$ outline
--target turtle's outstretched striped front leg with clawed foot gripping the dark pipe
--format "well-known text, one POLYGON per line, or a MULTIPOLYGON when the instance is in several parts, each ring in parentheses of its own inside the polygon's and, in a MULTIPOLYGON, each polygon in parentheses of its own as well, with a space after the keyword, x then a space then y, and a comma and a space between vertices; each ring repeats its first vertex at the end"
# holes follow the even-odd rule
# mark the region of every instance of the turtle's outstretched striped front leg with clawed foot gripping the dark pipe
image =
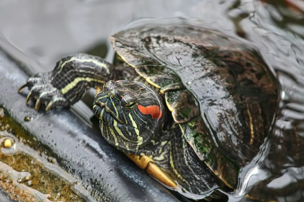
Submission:
POLYGON ((30 99, 36 99, 35 109, 45 104, 51 108, 67 108, 78 102, 89 88, 102 86, 106 81, 118 80, 119 72, 104 59, 84 53, 61 58, 54 70, 38 73, 20 86, 28 87, 30 99))

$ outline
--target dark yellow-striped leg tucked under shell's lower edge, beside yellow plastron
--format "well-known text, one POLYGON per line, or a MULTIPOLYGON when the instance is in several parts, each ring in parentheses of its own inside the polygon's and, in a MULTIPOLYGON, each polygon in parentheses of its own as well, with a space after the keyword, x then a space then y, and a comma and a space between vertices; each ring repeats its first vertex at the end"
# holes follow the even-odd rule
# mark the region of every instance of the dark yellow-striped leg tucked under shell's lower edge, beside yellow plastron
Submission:
POLYGON ((190 198, 202 197, 205 200, 224 197, 216 190, 222 187, 222 183, 199 160, 179 127, 166 132, 157 145, 152 159, 178 182, 176 190, 180 190, 182 195, 190 198))

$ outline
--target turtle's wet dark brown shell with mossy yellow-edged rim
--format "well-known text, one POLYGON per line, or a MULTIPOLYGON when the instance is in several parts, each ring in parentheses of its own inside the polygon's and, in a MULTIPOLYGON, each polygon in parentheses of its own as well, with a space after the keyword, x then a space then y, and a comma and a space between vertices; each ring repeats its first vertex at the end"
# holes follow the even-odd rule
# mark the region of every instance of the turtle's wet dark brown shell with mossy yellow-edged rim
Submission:
POLYGON ((160 88, 197 156, 227 186, 264 142, 278 104, 277 81, 245 40, 207 28, 150 24, 111 37, 117 54, 160 88))

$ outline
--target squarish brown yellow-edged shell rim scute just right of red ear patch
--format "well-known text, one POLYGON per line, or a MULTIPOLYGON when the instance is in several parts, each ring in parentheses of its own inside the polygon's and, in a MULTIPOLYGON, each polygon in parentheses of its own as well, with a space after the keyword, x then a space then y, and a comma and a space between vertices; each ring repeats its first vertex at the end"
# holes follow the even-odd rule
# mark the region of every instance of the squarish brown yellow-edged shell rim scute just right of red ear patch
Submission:
POLYGON ((164 94, 176 123, 185 123, 199 116, 199 105, 188 90, 167 91, 164 94))

